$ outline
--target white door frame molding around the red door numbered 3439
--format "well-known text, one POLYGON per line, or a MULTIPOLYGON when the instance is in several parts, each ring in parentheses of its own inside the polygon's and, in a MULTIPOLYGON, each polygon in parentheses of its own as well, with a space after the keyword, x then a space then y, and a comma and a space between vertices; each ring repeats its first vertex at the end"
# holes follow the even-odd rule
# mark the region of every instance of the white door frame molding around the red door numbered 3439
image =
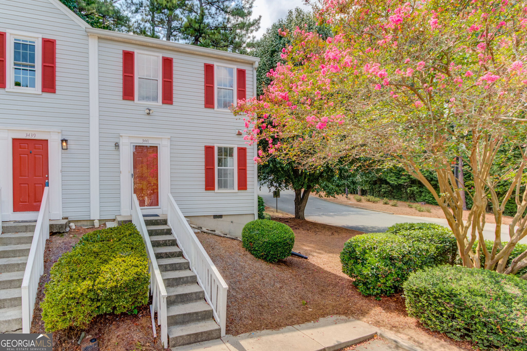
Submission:
POLYGON ((50 219, 62 219, 62 148, 60 130, 13 128, 0 126, 0 187, 2 191, 2 220, 34 220, 35 212, 13 212, 13 139, 47 140, 47 162, 50 177, 50 219), (28 138, 27 134, 36 134, 28 138))

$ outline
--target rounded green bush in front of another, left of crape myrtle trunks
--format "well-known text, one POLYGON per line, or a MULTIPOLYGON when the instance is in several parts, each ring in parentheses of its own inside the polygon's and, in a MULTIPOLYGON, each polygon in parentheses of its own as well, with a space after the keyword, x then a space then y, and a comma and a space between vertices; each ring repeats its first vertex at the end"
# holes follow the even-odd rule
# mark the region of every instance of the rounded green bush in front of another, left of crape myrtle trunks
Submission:
POLYGON ((435 247, 390 233, 357 235, 340 252, 342 271, 364 295, 390 295, 411 272, 435 264, 435 247))

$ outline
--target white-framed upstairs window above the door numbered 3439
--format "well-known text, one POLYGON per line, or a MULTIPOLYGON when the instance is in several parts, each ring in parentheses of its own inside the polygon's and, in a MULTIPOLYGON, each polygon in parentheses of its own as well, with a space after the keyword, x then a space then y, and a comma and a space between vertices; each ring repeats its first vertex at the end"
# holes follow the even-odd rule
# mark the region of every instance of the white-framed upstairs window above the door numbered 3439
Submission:
POLYGON ((6 33, 6 91, 42 94, 42 35, 6 33))

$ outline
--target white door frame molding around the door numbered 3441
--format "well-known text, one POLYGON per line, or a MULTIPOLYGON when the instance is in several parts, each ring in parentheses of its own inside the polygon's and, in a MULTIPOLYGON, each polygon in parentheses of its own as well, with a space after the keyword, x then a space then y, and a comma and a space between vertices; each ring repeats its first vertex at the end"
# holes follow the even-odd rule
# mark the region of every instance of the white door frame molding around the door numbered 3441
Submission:
POLYGON ((159 184, 159 207, 142 208, 143 214, 166 214, 168 213, 168 197, 170 191, 170 137, 160 135, 134 135, 119 134, 120 148, 120 180, 121 180, 121 214, 129 216, 132 214, 132 144, 159 145, 158 155, 158 184, 159 184), (148 140, 148 142, 145 142, 148 140))

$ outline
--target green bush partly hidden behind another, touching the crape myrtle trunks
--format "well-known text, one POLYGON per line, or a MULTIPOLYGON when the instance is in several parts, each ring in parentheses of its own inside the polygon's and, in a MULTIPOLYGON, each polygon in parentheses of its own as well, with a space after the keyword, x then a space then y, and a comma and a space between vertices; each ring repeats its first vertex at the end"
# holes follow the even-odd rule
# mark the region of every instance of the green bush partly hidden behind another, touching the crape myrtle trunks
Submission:
POLYGON ((411 241, 435 247, 436 265, 453 265, 457 257, 457 241, 452 231, 434 223, 397 223, 386 231, 411 241))

